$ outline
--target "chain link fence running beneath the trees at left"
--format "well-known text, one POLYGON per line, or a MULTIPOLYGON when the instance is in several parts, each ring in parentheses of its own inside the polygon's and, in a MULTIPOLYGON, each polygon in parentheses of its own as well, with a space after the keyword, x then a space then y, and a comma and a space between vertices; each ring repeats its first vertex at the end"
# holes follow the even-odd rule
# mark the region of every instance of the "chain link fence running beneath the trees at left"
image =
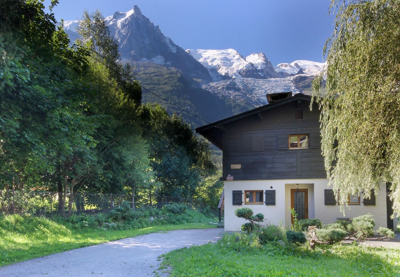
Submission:
MULTIPOLYGON (((41 217, 52 217, 54 215, 70 216, 76 214, 96 214, 106 213, 124 202, 129 202, 132 207, 131 195, 116 194, 92 194, 75 193, 71 197, 70 193, 58 193, 47 191, 13 191, 0 190, 0 213, 2 215, 34 215, 41 217)), ((186 203, 196 209, 202 209, 199 203, 187 203, 180 197, 153 197, 154 202, 139 201, 134 202, 135 208, 156 207, 161 209, 170 203, 186 203)))

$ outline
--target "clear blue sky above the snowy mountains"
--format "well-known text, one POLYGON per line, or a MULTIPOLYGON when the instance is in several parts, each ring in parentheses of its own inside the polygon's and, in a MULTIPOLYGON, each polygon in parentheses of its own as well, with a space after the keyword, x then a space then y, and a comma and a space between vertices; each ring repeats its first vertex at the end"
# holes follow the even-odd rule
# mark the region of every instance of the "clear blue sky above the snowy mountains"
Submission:
POLYGON ((242 56, 264 52, 274 65, 321 62, 333 31, 329 0, 60 0, 54 14, 58 20, 76 20, 84 9, 98 8, 109 16, 134 5, 185 50, 234 48, 242 56))

